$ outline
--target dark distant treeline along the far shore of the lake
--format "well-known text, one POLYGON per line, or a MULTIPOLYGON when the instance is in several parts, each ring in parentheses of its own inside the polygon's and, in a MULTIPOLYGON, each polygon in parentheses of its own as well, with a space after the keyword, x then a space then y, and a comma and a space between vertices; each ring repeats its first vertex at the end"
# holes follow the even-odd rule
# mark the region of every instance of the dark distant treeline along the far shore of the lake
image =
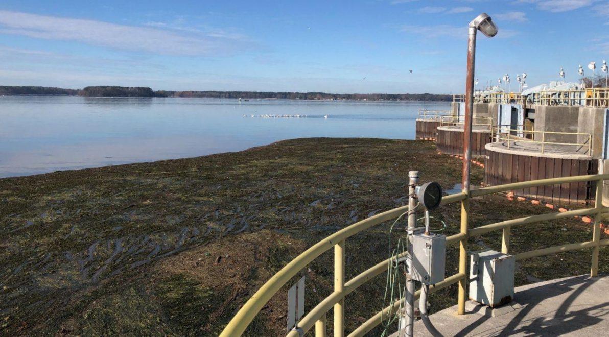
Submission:
POLYGON ((0 94, 79 95, 89 97, 205 97, 219 99, 302 99, 302 100, 451 100, 437 94, 326 94, 325 92, 258 91, 152 91, 147 87, 87 86, 83 89, 46 88, 43 86, 0 86, 0 94))

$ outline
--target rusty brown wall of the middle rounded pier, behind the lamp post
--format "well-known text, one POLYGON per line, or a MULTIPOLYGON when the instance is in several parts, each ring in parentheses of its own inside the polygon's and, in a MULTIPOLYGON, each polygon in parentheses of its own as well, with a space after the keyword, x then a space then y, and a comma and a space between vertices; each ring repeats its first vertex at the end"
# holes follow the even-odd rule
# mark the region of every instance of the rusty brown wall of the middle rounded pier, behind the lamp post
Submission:
MULTIPOLYGON (((463 131, 448 131, 438 129, 438 137, 435 144, 436 150, 445 155, 463 155, 463 131)), ((487 150, 484 145, 491 141, 490 133, 474 132, 471 134, 471 156, 472 158, 484 158, 487 150)))

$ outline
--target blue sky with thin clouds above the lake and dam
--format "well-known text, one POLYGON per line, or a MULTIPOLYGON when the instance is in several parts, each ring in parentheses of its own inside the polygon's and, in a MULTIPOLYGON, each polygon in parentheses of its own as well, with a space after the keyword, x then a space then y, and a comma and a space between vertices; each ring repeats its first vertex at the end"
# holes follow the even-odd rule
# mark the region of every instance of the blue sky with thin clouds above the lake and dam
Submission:
POLYGON ((0 85, 456 93, 481 12, 481 83, 609 59, 609 0, 4 0, 0 85))

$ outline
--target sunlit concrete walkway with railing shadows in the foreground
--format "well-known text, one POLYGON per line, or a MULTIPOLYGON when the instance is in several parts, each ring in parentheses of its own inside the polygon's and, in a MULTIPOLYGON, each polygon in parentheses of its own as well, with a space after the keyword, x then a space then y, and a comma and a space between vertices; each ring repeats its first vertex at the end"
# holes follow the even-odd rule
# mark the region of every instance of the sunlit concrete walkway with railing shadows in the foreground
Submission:
MULTIPOLYGON (((607 275, 518 287, 510 306, 499 309, 493 317, 471 302, 468 307, 476 312, 457 316, 457 308, 451 307, 430 318, 444 336, 609 336, 607 275)), ((429 336, 421 321, 415 322, 414 329, 415 336, 429 336)))

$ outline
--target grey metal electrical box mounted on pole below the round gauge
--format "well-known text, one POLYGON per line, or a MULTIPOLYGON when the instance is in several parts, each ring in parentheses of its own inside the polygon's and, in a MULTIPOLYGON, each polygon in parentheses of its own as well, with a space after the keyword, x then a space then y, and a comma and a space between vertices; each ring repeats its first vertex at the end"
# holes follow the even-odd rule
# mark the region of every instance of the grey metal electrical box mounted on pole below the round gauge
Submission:
POLYGON ((412 279, 432 285, 444 280, 446 237, 418 233, 412 237, 412 279))

